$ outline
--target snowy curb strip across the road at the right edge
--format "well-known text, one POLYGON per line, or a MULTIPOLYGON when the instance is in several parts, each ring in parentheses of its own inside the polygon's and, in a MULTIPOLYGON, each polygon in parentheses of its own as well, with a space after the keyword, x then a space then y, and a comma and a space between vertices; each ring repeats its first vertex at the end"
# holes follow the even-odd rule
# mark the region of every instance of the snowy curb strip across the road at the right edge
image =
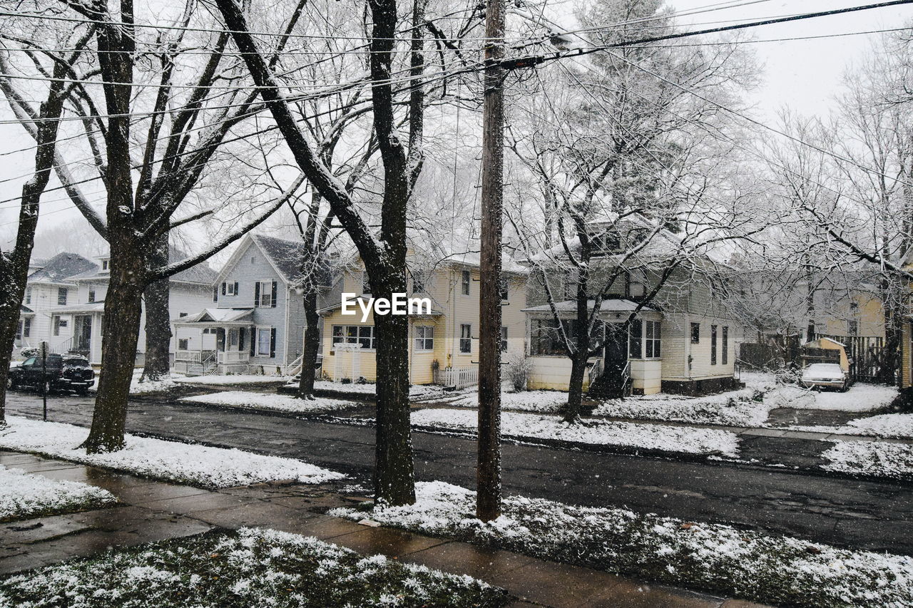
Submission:
POLYGON ((838 441, 821 455, 828 471, 913 479, 913 446, 883 441, 838 441))

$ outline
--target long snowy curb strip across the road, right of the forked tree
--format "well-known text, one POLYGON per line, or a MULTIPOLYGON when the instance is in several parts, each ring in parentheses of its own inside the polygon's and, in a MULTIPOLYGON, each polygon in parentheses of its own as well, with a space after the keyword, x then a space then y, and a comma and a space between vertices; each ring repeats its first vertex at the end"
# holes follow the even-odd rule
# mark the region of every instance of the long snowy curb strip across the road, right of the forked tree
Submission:
MULTIPOLYGON (((412 424, 471 432, 476 430, 478 420, 475 412, 467 410, 427 409, 413 412, 412 424)), ((606 422, 592 418, 584 419, 581 424, 567 425, 555 416, 511 412, 501 414, 501 433, 521 439, 558 439, 596 446, 631 446, 687 454, 736 456, 739 446, 739 439, 729 431, 606 422)))

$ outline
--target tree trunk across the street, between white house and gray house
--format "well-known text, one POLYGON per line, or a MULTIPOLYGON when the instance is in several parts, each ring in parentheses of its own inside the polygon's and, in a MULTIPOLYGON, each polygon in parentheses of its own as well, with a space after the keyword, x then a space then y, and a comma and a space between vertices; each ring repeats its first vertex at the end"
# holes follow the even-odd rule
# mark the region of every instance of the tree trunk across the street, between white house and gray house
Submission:
MULTIPOLYGON (((152 251, 149 266, 153 269, 168 265, 168 233, 159 236, 152 251)), ((171 346, 171 313, 168 300, 171 295, 171 281, 162 278, 146 288, 143 300, 146 308, 146 361, 142 380, 155 382, 168 377, 171 370, 169 347, 171 346)))

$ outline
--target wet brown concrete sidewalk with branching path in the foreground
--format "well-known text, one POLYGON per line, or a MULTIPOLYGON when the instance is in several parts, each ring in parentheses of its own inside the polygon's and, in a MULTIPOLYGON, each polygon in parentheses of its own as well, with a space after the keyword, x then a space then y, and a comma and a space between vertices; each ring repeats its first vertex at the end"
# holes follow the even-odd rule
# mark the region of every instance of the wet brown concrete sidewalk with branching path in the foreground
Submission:
POLYGON ((214 528, 279 529, 362 553, 468 574, 506 589, 511 606, 576 608, 750 608, 666 585, 638 582, 588 568, 563 565, 505 550, 477 547, 398 529, 371 528, 323 515, 352 500, 330 486, 269 483, 209 491, 152 481, 62 460, 0 451, 0 465, 51 479, 104 487, 116 506, 0 524, 0 575, 38 568, 109 548, 198 534, 214 528))

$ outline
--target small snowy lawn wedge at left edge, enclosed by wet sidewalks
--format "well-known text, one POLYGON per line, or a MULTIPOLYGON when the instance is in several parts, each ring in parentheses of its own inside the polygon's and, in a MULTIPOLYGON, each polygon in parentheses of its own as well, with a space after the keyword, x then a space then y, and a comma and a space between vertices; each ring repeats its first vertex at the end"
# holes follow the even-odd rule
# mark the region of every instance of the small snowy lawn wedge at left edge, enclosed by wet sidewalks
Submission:
POLYGON ((108 490, 76 481, 54 481, 0 466, 0 521, 99 508, 116 498, 108 490))

